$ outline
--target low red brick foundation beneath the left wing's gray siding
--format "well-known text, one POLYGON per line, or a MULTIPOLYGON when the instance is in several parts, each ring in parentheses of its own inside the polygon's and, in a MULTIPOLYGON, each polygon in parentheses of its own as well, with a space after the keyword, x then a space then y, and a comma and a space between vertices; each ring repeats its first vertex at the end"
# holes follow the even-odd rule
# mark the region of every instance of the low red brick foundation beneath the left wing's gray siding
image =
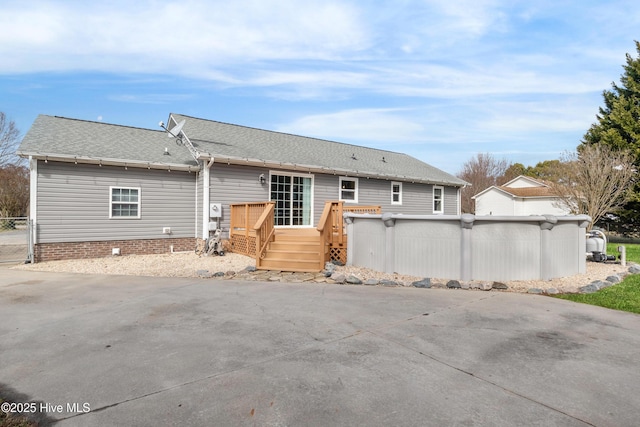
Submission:
POLYGON ((107 240, 100 242, 38 243, 34 248, 34 261, 102 258, 112 255, 112 248, 120 248, 120 255, 150 255, 194 251, 195 237, 174 239, 107 240))

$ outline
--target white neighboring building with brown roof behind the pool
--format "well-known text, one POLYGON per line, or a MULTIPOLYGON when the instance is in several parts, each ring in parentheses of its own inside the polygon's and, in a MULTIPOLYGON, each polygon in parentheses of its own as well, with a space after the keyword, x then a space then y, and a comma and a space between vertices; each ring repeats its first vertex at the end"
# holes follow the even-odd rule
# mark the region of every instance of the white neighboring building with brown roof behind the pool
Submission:
POLYGON ((502 186, 491 186, 472 197, 476 215, 569 215, 551 187, 520 175, 502 186))

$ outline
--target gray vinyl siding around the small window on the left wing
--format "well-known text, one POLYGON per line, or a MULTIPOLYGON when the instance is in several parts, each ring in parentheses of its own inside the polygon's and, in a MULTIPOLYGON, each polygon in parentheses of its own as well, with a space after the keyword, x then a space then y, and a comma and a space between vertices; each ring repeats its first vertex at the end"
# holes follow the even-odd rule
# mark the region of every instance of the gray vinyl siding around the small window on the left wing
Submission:
POLYGON ((37 242, 195 235, 195 173, 38 161, 37 242), (140 218, 109 218, 110 187, 140 188, 140 218), (171 234, 163 234, 171 227, 171 234))

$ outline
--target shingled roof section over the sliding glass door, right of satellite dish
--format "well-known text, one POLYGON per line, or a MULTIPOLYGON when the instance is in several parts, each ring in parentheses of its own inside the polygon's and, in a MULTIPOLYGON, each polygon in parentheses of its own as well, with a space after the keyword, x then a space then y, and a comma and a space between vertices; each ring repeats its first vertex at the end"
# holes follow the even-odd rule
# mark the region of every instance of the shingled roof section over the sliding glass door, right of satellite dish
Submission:
POLYGON ((216 161, 301 171, 464 186, 465 181, 407 154, 173 114, 199 151, 216 161))

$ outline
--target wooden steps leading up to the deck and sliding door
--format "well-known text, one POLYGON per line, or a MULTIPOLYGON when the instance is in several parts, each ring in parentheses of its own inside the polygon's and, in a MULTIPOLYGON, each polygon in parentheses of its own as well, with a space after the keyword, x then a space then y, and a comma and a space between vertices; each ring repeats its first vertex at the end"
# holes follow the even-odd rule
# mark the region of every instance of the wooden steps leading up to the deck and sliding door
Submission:
POLYGON ((321 253, 317 229, 281 228, 276 229, 264 257, 256 264, 261 270, 318 272, 324 268, 320 265, 321 253))

